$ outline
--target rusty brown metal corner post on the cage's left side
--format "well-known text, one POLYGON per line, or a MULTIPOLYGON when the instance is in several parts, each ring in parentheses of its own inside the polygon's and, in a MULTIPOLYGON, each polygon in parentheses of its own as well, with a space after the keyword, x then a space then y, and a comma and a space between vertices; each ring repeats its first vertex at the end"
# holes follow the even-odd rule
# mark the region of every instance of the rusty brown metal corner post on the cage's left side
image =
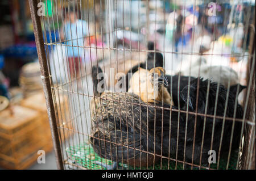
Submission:
POLYGON ((36 49, 38 50, 38 59, 40 63, 44 95, 46 97, 47 112, 49 117, 49 123, 51 125, 52 141, 53 141, 53 146, 55 150, 57 169, 63 170, 64 169, 63 158, 61 157, 60 140, 59 140, 59 135, 57 131, 55 108, 52 100, 51 81, 50 81, 49 70, 47 66, 46 50, 44 49, 42 26, 41 26, 40 16, 37 15, 38 1, 29 0, 29 3, 30 3, 32 23, 34 26, 36 49))

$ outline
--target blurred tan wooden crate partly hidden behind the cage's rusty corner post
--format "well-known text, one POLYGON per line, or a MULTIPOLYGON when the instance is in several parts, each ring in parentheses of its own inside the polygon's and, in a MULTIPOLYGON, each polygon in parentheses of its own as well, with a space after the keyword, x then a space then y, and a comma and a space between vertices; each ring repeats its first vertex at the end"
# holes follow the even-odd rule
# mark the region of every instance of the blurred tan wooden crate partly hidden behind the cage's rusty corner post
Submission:
MULTIPOLYGON (((46 107, 46 99, 44 97, 43 92, 36 93, 34 95, 30 95, 28 98, 22 100, 20 103, 23 107, 31 108, 33 110, 40 112, 41 119, 44 120, 44 124, 47 129, 49 128, 49 119, 47 115, 47 107, 46 107)), ((73 132, 72 121, 69 120, 69 110, 67 106, 67 98, 64 96, 56 96, 56 118, 57 118, 57 126, 61 127, 60 131, 61 140, 68 139, 73 132)))

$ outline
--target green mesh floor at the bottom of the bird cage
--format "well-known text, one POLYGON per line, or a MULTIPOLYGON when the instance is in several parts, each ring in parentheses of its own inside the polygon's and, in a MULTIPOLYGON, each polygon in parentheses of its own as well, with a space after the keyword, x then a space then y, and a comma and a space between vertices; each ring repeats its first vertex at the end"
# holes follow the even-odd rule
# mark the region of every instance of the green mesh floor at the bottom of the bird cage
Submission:
MULTIPOLYGON (((98 154, 96 154, 92 148, 91 145, 88 143, 80 144, 80 145, 75 145, 75 146, 70 146, 69 148, 66 149, 69 159, 69 162, 72 162, 74 164, 80 165, 84 167, 85 169, 92 169, 92 170, 105 170, 106 168, 96 164, 96 161, 105 163, 107 165, 112 165, 112 161, 109 159, 101 158, 98 154)), ((237 165, 237 158, 238 158, 238 151, 234 151, 230 155, 230 160, 229 160, 229 170, 234 170, 236 169, 237 165)), ((226 164, 227 164, 228 158, 220 158, 220 165, 218 167, 219 170, 225 170, 226 169, 226 164)), ((168 159, 163 159, 162 160, 162 168, 160 166, 160 163, 155 164, 155 167, 153 166, 148 166, 148 167, 131 167, 127 166, 126 164, 118 163, 118 169, 130 169, 130 170, 137 170, 137 169, 155 169, 155 170, 174 170, 176 162, 175 161, 170 161, 169 167, 168 167, 168 159)), ((197 167, 194 167, 195 169, 198 169, 197 167)), ((210 165, 211 169, 217 169, 217 163, 211 164, 210 165)), ((177 170, 182 170, 183 169, 183 163, 177 163, 177 170)))

